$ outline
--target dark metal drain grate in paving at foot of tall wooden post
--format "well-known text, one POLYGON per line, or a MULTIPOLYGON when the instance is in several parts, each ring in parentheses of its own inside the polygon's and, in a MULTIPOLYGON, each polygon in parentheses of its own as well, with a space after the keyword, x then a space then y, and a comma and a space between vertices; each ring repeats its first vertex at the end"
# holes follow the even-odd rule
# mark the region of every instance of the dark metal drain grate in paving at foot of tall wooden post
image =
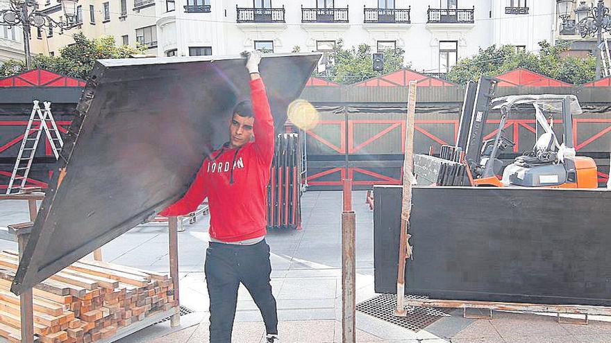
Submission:
MULTIPOLYGON (((427 299, 426 297, 418 297, 415 295, 406 295, 406 299, 427 299)), ((426 326, 437 322, 442 317, 448 317, 453 308, 424 308, 415 307, 408 308, 407 317, 395 317, 392 315, 396 308, 396 294, 380 294, 356 306, 356 310, 382 319, 403 328, 408 328, 411 331, 420 331, 426 326)))

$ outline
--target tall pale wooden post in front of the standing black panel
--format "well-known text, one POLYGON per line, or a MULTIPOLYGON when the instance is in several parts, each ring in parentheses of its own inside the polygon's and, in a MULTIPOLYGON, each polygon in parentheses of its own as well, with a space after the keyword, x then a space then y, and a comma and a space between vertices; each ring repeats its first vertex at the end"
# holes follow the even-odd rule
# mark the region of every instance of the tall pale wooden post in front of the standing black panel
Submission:
POLYGON ((401 203, 401 236, 399 238, 399 270, 396 278, 396 309, 394 315, 404 317, 405 313, 405 261, 410 258, 408 243, 410 211, 412 209, 412 183, 414 174, 414 122, 416 118, 416 81, 410 81, 408 93, 408 114, 405 116, 405 159, 403 160, 403 202, 401 203))

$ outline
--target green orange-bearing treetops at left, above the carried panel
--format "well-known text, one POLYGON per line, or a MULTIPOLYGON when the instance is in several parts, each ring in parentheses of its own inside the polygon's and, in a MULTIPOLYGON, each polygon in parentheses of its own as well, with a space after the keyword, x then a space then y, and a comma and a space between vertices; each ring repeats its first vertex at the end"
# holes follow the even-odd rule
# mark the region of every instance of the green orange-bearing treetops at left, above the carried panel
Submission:
MULTIPOLYGON (((74 78, 86 79, 93 69, 96 60, 105 58, 130 58, 140 54, 144 46, 126 46, 115 44, 112 36, 88 39, 83 33, 74 35, 74 44, 60 49, 58 56, 32 56, 33 69, 42 68, 56 73, 62 73, 74 78)), ((0 66, 0 76, 6 77, 14 73, 26 71, 26 65, 20 60, 8 60, 0 66)))

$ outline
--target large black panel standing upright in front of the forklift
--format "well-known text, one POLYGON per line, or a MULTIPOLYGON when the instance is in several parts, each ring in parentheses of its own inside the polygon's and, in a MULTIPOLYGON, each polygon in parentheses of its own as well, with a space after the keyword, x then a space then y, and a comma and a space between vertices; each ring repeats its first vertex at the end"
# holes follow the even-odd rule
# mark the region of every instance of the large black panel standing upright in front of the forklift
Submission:
MULTIPOLYGON (((374 188, 374 282, 396 292, 401 187, 374 188)), ((405 292, 611 306, 611 191, 413 189, 405 292)))

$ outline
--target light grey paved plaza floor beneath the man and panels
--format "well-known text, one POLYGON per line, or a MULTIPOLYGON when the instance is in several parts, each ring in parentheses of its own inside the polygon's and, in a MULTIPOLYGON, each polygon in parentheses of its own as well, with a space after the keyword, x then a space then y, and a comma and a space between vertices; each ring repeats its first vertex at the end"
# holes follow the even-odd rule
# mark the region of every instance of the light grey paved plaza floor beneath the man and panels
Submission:
MULTIPOLYGON (((303 230, 271 232, 271 284, 278 301, 279 331, 283 343, 342 342, 341 337, 341 192, 306 192, 302 198, 303 230)), ((357 214, 357 301, 374 297, 373 213, 365 193, 355 192, 357 214)), ((0 201, 0 226, 27 220, 26 202, 0 201)), ((120 343, 208 342, 208 294, 203 260, 209 236, 208 218, 178 234, 181 304, 193 313, 181 318, 181 326, 169 322, 150 326, 120 343)), ((167 272, 167 229, 140 226, 103 247, 105 261, 167 272)), ((16 249, 0 241, 0 249, 16 249)), ((611 343, 611 318, 590 317, 588 326, 558 324, 555 316, 495 313, 494 319, 450 316, 413 332, 357 313, 358 342, 426 343, 611 343), (601 320, 601 321, 599 321, 601 320)), ((233 342, 262 342, 262 319, 248 292, 240 288, 233 342)))

